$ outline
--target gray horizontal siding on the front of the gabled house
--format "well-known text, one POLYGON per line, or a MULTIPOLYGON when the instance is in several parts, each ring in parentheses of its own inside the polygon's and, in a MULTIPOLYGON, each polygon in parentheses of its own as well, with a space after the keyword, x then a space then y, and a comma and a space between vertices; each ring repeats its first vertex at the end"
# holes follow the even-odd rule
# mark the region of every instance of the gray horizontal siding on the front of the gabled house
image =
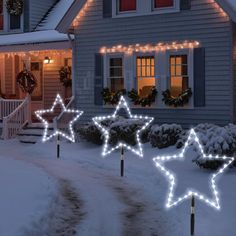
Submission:
MULTIPOLYGON (((94 54, 102 46, 146 44, 175 40, 197 40, 206 50, 206 106, 194 109, 134 109, 158 123, 190 126, 202 122, 227 124, 233 121, 232 109, 232 28, 227 17, 207 0, 192 0, 192 9, 180 13, 103 19, 102 0, 95 0, 76 33, 77 106, 85 111, 83 121, 110 109, 94 105, 94 77, 91 86, 84 80, 94 75, 94 54)), ((158 96, 161 96, 159 94, 158 96)))

